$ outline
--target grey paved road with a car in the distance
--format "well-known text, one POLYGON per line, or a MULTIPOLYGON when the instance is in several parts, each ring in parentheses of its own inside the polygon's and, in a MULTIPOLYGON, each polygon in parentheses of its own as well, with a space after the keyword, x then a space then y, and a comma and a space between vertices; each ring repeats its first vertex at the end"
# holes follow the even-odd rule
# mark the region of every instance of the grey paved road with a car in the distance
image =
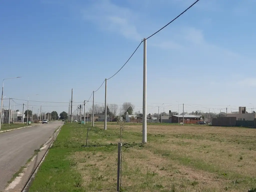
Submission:
POLYGON ((54 121, 0 133, 0 191, 61 124, 62 121, 54 121))

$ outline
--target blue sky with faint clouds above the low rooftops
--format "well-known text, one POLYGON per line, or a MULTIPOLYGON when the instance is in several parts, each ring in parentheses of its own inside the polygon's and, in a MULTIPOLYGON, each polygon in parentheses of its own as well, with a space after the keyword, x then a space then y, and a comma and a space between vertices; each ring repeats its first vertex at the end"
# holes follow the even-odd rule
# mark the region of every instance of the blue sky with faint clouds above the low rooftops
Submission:
MULTIPOLYGON (((141 39, 192 3, 191 0, 1 1, 0 78, 22 76, 5 81, 4 96, 26 100, 28 95, 39 94, 30 99, 68 102, 73 88, 75 102, 88 100, 105 78, 119 70, 141 39)), ((178 101, 205 107, 186 106, 187 111, 216 108, 216 112, 217 108, 228 105, 256 106, 255 6, 253 0, 232 3, 200 0, 148 39, 148 105, 175 105, 178 101)), ((108 81, 108 102, 132 102, 139 109, 142 85, 143 46, 140 46, 129 63, 108 81)), ((104 102, 104 86, 95 93, 95 102, 104 102)), ((68 110, 67 103, 30 104, 46 105, 46 110, 58 112, 68 110)), ((168 108, 177 110, 177 106, 168 108)), ((148 112, 157 109, 149 107, 148 112)))

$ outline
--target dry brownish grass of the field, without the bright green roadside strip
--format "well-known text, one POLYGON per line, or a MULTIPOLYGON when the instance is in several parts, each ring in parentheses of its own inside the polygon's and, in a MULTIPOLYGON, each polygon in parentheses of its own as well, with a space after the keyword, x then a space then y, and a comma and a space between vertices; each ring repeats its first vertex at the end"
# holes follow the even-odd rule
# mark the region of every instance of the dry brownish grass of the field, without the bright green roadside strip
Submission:
MULTIPOLYGON (((119 125, 109 125, 107 131, 92 132, 91 142, 116 143, 118 129, 119 125)), ((125 124, 123 143, 141 142, 141 130, 140 125, 125 124)), ((147 133, 144 147, 136 143, 123 147, 125 191, 248 191, 256 187, 256 129, 148 125, 147 133)), ((93 151, 72 156, 83 187, 114 191, 117 148, 101 146, 93 151)))

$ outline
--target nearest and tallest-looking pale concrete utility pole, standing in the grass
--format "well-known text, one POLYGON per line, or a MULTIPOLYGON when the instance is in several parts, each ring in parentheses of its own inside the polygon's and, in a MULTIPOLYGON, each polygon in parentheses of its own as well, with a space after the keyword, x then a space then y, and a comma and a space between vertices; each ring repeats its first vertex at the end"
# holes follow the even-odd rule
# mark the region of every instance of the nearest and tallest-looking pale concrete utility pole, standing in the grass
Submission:
POLYGON ((143 50, 143 109, 142 143, 147 143, 147 39, 144 38, 143 50))

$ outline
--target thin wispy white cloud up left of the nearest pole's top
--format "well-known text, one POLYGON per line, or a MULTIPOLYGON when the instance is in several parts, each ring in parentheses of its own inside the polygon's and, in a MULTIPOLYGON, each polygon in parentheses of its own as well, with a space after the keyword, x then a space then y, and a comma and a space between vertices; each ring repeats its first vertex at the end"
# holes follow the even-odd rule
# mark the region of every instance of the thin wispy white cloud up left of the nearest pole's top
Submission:
POLYGON ((103 30, 118 33, 129 39, 141 39, 134 24, 137 16, 129 8, 117 6, 108 0, 100 0, 83 9, 82 14, 84 19, 103 30))

